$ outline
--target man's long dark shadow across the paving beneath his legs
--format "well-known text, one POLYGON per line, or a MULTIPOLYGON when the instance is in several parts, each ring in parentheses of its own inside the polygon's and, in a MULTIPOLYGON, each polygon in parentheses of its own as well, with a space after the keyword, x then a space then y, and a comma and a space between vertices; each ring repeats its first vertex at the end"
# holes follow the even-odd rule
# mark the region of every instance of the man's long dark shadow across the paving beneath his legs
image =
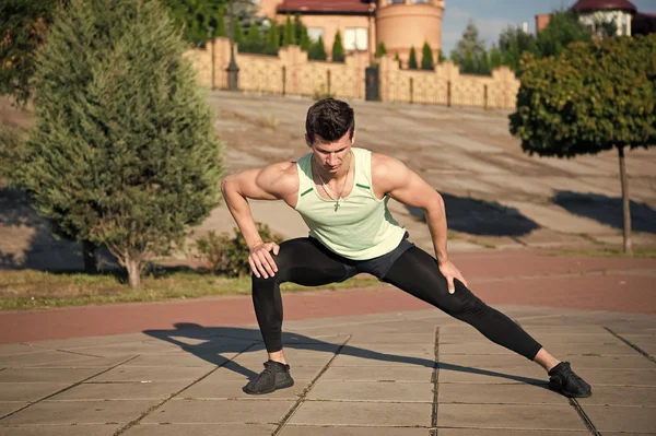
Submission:
MULTIPOLYGON (((262 362, 267 360, 265 345, 261 341, 259 330, 245 329, 236 327, 202 327, 192 322, 176 322, 173 330, 144 330, 143 333, 178 345, 195 356, 202 358, 213 365, 222 366, 226 369, 241 374, 248 379, 253 379, 257 373, 239 365, 238 363, 221 356, 219 353, 243 353, 261 352, 262 362), (195 344, 188 343, 196 342, 195 344)), ((306 337, 297 333, 283 333, 282 341, 285 349, 311 350, 317 353, 333 353, 340 346, 330 342, 306 337)), ((408 365, 423 366, 427 368, 435 367, 435 361, 421 357, 402 356, 396 354, 378 353, 358 346, 344 345, 339 351, 340 355, 370 358, 379 362, 394 362, 408 365)), ((497 373, 488 369, 472 368, 469 366, 455 365, 449 363, 437 363, 441 370, 456 370, 460 373, 478 374, 491 377, 502 377, 513 381, 519 381, 549 389, 546 380, 530 377, 514 376, 512 374, 497 373)))

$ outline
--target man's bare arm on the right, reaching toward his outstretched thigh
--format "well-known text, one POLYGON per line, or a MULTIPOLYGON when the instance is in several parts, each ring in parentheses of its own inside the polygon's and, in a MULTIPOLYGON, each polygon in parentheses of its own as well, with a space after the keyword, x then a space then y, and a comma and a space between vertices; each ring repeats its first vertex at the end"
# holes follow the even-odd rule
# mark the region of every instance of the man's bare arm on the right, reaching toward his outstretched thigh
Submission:
POLYGON ((442 196, 402 162, 383 154, 372 155, 372 178, 376 191, 387 193, 403 204, 423 209, 435 258, 441 264, 448 262, 442 196))

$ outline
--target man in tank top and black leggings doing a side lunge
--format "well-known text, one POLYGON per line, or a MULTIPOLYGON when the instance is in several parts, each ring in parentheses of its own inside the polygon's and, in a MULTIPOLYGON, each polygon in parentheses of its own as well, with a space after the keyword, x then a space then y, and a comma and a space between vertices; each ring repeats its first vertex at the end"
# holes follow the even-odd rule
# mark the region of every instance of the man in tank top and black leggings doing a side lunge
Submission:
POLYGON ((467 288, 448 258, 440 193, 400 161, 353 148, 354 127, 347 103, 319 101, 308 109, 305 122, 312 153, 223 180, 225 202, 250 249, 253 302, 269 355, 265 370, 244 390, 269 393, 294 384, 282 350, 280 283, 317 286, 367 272, 535 361, 548 372, 552 389, 567 397, 589 397, 590 386, 567 362, 554 358, 467 288), (407 240, 408 234, 387 209, 389 198, 425 211, 434 258, 407 240), (280 246, 263 241, 247 199, 283 200, 302 215, 309 236, 280 246))

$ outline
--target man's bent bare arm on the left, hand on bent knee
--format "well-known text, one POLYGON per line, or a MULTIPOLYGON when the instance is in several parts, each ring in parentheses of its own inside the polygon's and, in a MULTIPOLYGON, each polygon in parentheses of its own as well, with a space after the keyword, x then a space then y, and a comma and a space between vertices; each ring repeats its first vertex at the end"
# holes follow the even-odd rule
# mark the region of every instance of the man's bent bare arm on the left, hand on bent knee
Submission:
POLYGON ((248 199, 285 200, 295 202, 298 179, 292 162, 281 162, 263 168, 247 169, 227 176, 221 184, 221 191, 237 226, 244 234, 249 249, 262 244, 257 232, 248 199))

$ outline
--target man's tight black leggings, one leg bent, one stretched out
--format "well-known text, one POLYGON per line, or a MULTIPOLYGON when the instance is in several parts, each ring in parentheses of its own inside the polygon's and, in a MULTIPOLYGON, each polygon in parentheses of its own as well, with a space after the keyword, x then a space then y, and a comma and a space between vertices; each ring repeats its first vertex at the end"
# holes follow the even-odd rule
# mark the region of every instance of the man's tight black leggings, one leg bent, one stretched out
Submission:
MULTIPOLYGON (((255 314, 269 353, 282 350, 280 283, 318 286, 342 282, 359 272, 371 272, 360 268, 370 261, 342 258, 313 238, 288 240, 281 244, 273 258, 278 266, 273 278, 253 275, 255 314)), ((542 347, 512 319, 481 302, 460 281, 455 280, 456 292, 449 294, 437 261, 420 248, 406 249, 379 279, 471 325, 492 342, 530 361, 542 347)))

